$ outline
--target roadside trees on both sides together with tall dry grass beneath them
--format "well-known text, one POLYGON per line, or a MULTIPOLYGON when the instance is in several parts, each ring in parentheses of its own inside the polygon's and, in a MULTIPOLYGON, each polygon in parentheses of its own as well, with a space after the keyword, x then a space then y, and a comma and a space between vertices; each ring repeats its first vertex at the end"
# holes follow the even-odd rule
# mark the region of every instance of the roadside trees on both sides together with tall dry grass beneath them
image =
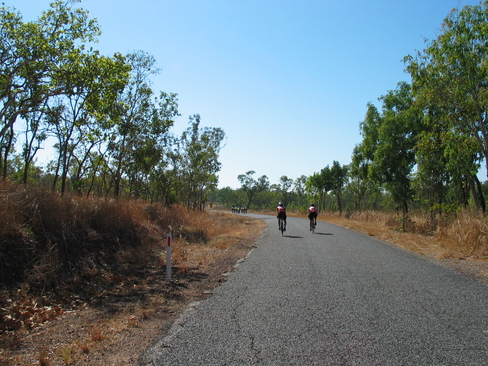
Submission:
POLYGON ((434 239, 444 257, 487 258, 488 2, 454 9, 405 57, 411 81, 367 103, 350 164, 277 183, 250 170, 237 189, 217 189, 225 132, 194 114, 175 135, 177 94, 152 90, 156 60, 101 55, 98 24, 76 3, 34 22, 0 7, 2 347, 141 268, 161 270, 167 232, 182 243, 180 270, 198 267, 189 248, 218 249, 223 235, 210 202, 274 213, 282 201, 297 215, 314 202, 322 217, 434 239), (41 166, 46 144, 55 158, 41 166))

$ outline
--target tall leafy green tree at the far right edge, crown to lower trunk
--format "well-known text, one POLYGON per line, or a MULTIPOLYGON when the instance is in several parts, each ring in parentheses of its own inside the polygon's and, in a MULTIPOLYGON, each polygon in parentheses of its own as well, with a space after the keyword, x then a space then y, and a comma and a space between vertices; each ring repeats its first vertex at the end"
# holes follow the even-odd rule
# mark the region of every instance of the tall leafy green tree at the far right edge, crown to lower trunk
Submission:
MULTIPOLYGON (((468 190, 476 185, 481 159, 488 164, 487 24, 488 2, 454 9, 444 19, 437 39, 429 41, 416 57, 405 58, 416 103, 426 111, 432 136, 428 140, 429 135, 424 135, 419 144, 420 171, 425 176, 437 166, 436 179, 447 181, 439 163, 426 154, 435 152, 448 178, 460 188, 467 185, 468 190), (435 150, 429 147, 434 141, 435 150)), ((484 210, 481 190, 472 192, 475 205, 484 210)))

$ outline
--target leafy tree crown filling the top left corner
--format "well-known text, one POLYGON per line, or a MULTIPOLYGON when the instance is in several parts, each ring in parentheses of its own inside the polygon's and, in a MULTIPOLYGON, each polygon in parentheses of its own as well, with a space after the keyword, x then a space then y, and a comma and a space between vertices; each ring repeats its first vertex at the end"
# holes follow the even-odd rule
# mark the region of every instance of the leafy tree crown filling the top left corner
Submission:
POLYGON ((55 1, 34 22, 0 7, 0 139, 21 115, 66 91, 73 57, 100 34, 95 20, 72 1, 55 1))

